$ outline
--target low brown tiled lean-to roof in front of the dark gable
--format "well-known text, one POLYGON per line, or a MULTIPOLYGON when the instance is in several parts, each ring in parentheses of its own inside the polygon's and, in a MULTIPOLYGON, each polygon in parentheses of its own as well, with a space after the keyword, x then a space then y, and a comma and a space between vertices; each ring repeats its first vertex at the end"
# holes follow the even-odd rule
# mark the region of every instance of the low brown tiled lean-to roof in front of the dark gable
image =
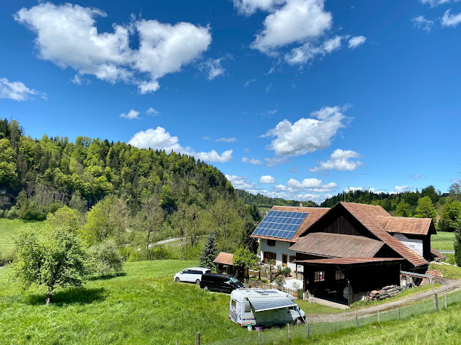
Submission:
POLYGON ((335 258, 373 258, 382 246, 383 242, 364 236, 313 232, 302 237, 288 250, 335 258))

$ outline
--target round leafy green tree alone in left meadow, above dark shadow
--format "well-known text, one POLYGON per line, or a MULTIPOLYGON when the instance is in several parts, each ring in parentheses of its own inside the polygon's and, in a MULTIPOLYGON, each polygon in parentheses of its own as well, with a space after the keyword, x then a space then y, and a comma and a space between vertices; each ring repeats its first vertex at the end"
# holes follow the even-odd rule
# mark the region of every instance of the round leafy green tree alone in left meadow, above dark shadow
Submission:
POLYGON ((46 287, 46 305, 57 288, 83 283, 85 252, 68 227, 21 229, 15 239, 14 275, 23 290, 33 283, 46 287))

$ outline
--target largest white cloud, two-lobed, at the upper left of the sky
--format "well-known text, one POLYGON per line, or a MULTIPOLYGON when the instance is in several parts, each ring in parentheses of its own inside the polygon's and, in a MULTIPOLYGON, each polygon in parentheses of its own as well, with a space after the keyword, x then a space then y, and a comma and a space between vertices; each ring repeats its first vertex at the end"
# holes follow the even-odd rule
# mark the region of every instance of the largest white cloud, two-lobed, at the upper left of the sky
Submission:
POLYGON ((159 78, 181 70, 211 43, 210 28, 191 23, 171 25, 142 19, 129 25, 113 24, 112 33, 99 33, 95 26, 98 16, 107 14, 100 9, 47 2, 23 8, 14 18, 37 34, 36 48, 43 60, 71 67, 79 75, 137 84, 141 94, 159 89, 159 78), (135 31, 139 35, 137 50, 129 44, 135 31))

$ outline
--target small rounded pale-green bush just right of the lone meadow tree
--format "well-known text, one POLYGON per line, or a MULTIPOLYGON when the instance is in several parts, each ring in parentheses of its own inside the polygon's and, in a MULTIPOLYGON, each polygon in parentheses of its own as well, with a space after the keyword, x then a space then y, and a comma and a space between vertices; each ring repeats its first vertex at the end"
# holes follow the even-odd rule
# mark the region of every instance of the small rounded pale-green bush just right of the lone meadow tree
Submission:
POLYGON ((103 277, 122 272, 123 261, 117 243, 112 240, 95 243, 88 249, 88 263, 92 273, 103 277))

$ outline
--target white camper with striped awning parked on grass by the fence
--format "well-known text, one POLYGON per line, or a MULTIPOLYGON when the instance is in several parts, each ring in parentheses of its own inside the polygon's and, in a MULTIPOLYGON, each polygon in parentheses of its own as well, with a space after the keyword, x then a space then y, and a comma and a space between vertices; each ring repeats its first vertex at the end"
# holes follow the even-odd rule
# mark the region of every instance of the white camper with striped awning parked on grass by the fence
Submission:
POLYGON ((230 294, 229 319, 239 326, 270 327, 303 322, 305 314, 295 297, 279 290, 237 289, 230 294))

